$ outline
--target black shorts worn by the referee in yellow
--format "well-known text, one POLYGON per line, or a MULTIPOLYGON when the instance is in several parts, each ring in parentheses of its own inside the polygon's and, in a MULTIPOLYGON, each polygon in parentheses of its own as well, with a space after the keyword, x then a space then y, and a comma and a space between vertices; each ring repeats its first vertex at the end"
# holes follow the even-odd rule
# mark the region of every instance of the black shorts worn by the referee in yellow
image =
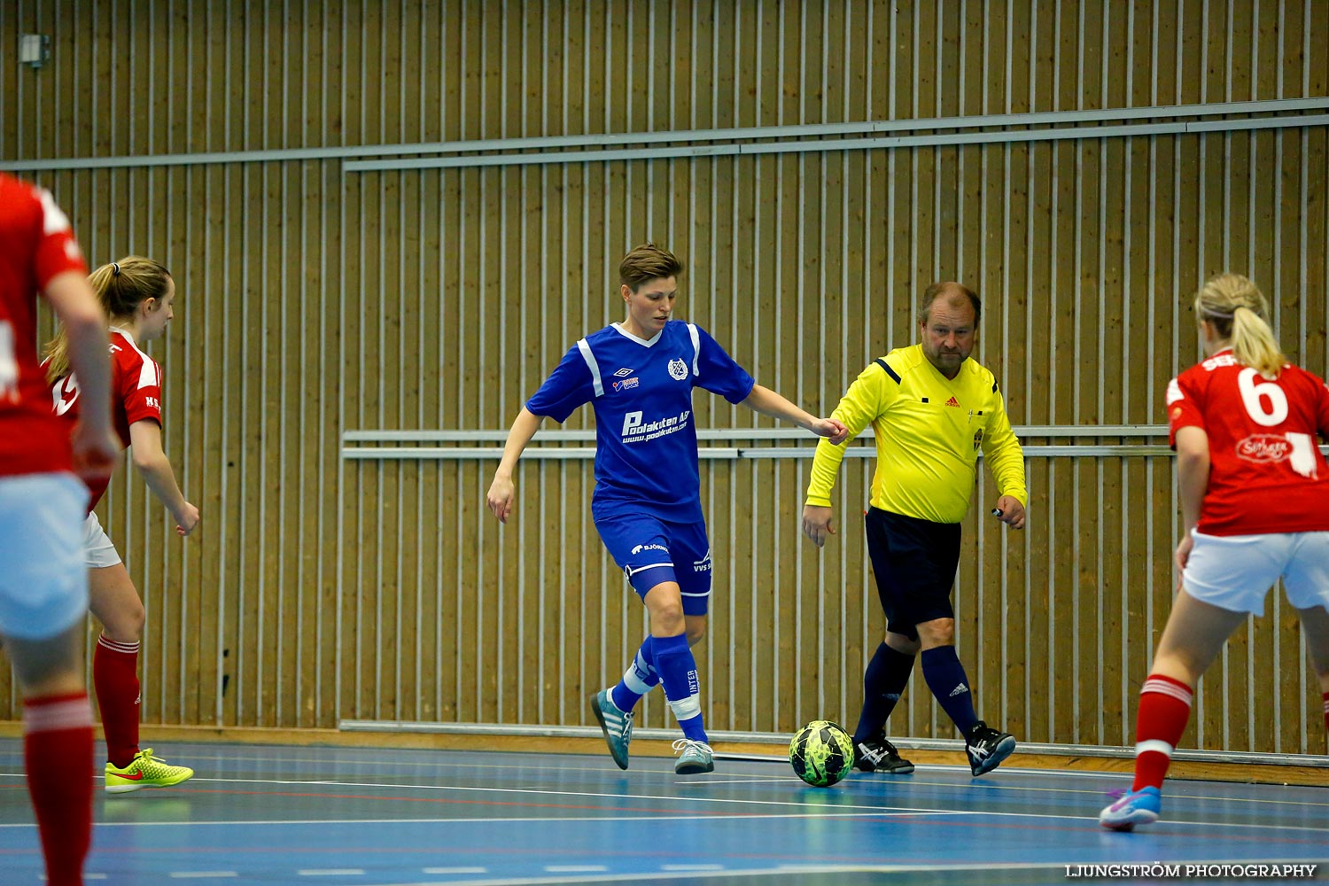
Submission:
POLYGON ((956 618, 950 587, 960 567, 960 523, 933 523, 880 507, 869 509, 864 519, 886 630, 917 640, 917 624, 956 618))

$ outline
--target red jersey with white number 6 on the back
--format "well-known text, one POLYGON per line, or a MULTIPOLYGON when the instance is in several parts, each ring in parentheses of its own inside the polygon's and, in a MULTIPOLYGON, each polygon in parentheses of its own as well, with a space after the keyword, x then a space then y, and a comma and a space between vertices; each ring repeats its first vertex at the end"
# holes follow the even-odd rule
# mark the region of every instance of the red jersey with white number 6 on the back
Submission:
POLYGON ((1168 437, 1201 428, 1209 437, 1209 485, 1196 531, 1259 535, 1329 530, 1329 388, 1293 365, 1263 377, 1220 351, 1167 388, 1168 437))

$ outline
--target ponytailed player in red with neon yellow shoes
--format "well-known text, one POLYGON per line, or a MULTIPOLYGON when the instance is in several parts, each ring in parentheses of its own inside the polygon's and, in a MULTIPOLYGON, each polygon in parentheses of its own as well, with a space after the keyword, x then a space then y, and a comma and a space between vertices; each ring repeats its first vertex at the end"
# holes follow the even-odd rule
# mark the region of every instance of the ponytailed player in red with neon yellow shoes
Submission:
MULTIPOLYGON (((121 446, 133 448, 134 466, 157 499, 175 519, 175 531, 189 535, 198 526, 198 509, 185 499, 162 450, 162 371, 141 344, 161 337, 174 316, 175 282, 159 263, 137 255, 104 264, 89 278, 110 319, 110 410, 121 446)), ((82 381, 70 375, 64 331, 48 347, 47 379, 57 414, 76 418, 88 401, 82 381)), ((84 523, 89 608, 101 622, 92 659, 93 687, 106 735, 105 788, 126 793, 179 784, 194 770, 167 765, 152 748, 138 747, 138 646, 144 602, 116 546, 92 511, 106 491, 109 477, 89 484, 92 501, 84 523)))

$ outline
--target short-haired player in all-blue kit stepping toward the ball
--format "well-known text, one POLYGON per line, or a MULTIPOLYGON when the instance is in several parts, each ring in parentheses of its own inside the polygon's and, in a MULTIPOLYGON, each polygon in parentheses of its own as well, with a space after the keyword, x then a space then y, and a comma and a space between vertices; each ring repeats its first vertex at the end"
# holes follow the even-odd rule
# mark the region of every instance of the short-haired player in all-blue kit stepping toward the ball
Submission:
POLYGON ((691 646, 706 632, 711 547, 702 517, 692 388, 784 418, 844 442, 835 418, 816 418, 754 383, 704 329, 670 320, 683 271, 667 250, 638 246, 618 267, 627 317, 581 339, 517 413, 489 486, 489 510, 506 522, 513 469, 540 422, 563 422, 585 402, 595 410, 591 514, 650 614, 650 635, 617 685, 591 697, 591 712, 619 769, 627 769, 633 708, 663 683, 683 737, 674 772, 715 769, 702 725, 700 683, 691 646))

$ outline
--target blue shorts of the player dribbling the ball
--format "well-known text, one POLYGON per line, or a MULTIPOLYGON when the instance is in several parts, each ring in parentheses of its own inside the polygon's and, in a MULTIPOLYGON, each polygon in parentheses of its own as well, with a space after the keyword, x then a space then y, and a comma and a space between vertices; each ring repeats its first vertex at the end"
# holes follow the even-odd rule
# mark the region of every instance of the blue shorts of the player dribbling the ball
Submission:
POLYGON ((706 523, 670 523, 649 514, 595 521, 610 557, 642 599, 661 582, 678 582, 684 615, 706 615, 711 603, 711 545, 706 523))

